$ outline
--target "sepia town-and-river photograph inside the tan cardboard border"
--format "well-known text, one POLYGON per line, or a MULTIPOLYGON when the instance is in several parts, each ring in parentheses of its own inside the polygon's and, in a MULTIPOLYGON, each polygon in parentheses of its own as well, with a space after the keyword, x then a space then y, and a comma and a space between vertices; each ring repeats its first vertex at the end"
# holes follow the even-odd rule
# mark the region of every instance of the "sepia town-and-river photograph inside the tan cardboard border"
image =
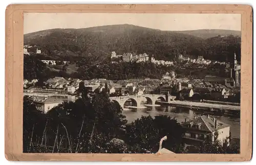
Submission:
POLYGON ((24 13, 23 152, 240 154, 241 14, 24 13))

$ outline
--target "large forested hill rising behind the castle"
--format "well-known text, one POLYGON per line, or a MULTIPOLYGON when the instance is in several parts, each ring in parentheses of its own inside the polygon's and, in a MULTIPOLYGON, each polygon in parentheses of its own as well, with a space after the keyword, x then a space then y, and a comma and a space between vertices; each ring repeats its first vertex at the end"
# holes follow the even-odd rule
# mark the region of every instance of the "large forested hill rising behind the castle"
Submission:
POLYGON ((225 61, 236 52, 240 57, 241 38, 230 36, 203 39, 180 32, 160 31, 140 26, 121 24, 86 29, 52 29, 24 35, 24 45, 37 45, 42 58, 80 60, 93 57, 103 62, 111 51, 154 54, 158 60, 173 60, 178 54, 197 58, 225 61), (214 45, 212 45, 212 43, 214 45), (231 44, 230 44, 231 43, 231 44))

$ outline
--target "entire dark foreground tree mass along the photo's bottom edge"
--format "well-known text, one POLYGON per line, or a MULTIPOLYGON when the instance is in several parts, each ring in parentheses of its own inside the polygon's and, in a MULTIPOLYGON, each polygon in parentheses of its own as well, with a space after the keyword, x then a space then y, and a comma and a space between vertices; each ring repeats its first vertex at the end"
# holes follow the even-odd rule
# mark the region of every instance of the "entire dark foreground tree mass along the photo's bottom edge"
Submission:
POLYGON ((163 147, 175 153, 239 153, 239 147, 217 143, 185 150, 181 141, 184 132, 176 119, 148 116, 127 125, 120 105, 111 102, 106 91, 92 97, 84 89, 79 91, 81 98, 64 102, 47 114, 37 111, 35 104, 24 97, 24 152, 156 153, 160 139, 166 135, 163 147))

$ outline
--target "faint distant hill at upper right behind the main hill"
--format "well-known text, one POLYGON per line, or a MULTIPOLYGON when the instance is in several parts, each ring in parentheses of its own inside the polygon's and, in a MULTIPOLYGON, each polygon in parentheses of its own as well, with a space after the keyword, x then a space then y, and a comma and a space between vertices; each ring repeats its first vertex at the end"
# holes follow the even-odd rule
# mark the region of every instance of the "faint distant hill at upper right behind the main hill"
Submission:
POLYGON ((219 29, 201 29, 193 31, 175 31, 177 33, 187 34, 191 36, 200 37, 203 39, 217 37, 217 36, 239 36, 241 37, 241 31, 232 31, 232 30, 219 30, 219 29))

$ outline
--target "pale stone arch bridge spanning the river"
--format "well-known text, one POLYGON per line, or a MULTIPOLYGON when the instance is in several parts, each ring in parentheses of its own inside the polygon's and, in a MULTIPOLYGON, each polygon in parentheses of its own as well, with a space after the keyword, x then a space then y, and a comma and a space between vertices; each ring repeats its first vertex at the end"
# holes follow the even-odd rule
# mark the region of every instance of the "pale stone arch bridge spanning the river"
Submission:
POLYGON ((144 99, 147 100, 147 104, 155 105, 157 101, 162 101, 162 102, 170 102, 174 101, 176 96, 168 96, 168 100, 166 100, 165 95, 153 95, 153 94, 148 94, 148 95, 130 95, 130 96, 119 96, 119 97, 110 97, 111 101, 118 102, 119 105, 123 108, 124 103, 126 101, 132 101, 133 106, 140 107, 141 106, 141 101, 144 99))

